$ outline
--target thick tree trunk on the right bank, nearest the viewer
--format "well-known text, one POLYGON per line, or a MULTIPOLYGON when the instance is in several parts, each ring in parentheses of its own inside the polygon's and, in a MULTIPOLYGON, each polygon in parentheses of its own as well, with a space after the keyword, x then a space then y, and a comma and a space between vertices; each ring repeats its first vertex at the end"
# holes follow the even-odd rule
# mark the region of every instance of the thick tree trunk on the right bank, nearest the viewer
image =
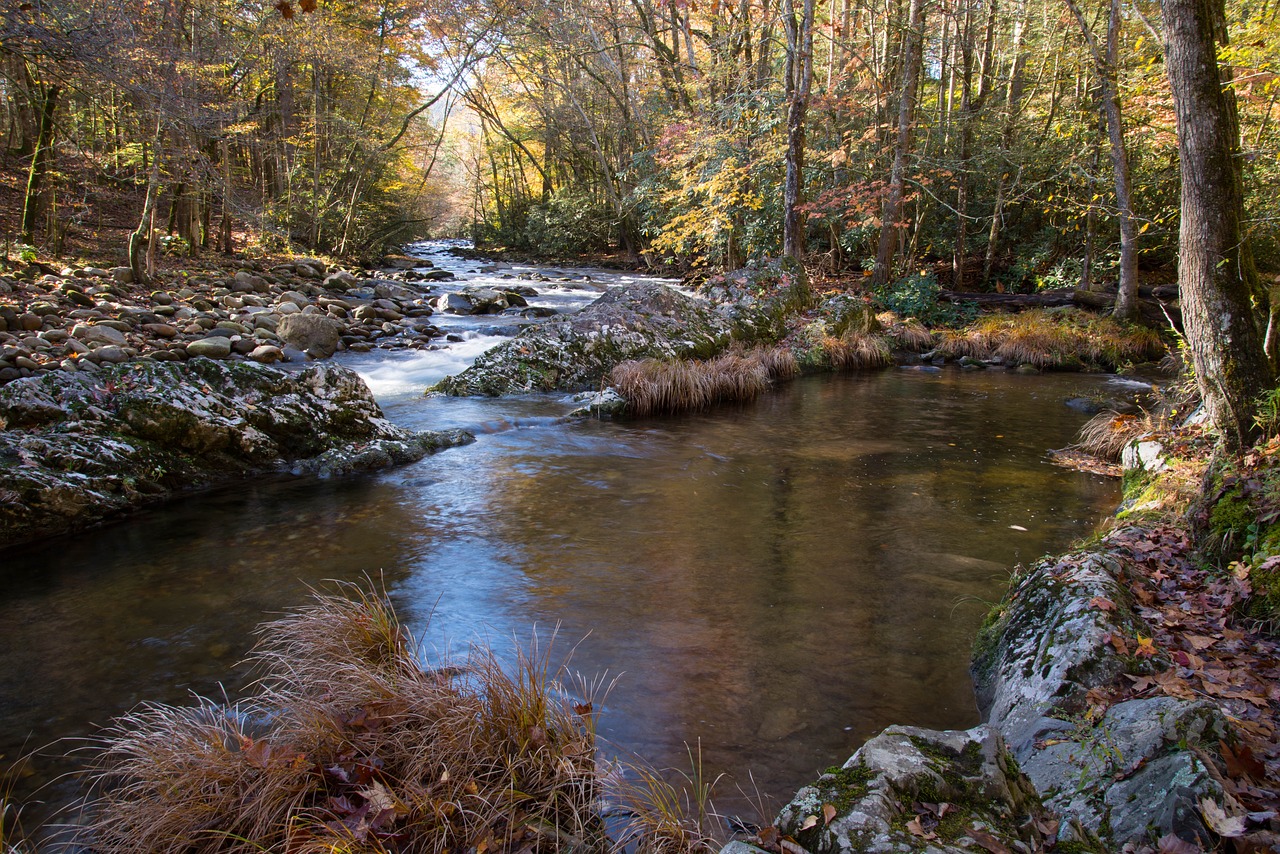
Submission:
POLYGON ((1235 100, 1224 92, 1217 67, 1215 36, 1224 20, 1222 4, 1162 0, 1162 8, 1183 183, 1178 237, 1183 319, 1208 416, 1228 446, 1238 448, 1254 431, 1254 401, 1272 371, 1251 301, 1257 274, 1240 222, 1235 100))

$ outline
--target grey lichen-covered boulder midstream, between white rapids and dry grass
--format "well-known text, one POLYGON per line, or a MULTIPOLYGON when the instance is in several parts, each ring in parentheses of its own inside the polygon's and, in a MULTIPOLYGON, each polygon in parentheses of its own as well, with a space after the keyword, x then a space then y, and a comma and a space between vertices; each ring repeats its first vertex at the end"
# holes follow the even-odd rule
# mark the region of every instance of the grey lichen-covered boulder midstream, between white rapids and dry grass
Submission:
POLYGON ((733 339, 716 306, 663 284, 608 291, 582 311, 525 329, 429 392, 520 394, 598 388, 632 359, 708 357, 733 339))

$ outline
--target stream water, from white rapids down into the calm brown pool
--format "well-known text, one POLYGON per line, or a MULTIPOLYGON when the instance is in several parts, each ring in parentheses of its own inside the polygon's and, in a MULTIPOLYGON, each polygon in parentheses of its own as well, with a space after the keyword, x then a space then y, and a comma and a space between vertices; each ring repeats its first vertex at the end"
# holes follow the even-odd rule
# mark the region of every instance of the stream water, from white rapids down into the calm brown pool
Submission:
MULTIPOLYGON (((582 303, 613 278, 559 296, 582 303)), ((891 369, 695 416, 564 421, 554 396, 422 398, 500 339, 492 318, 449 323, 448 350, 343 361, 397 423, 470 426, 475 444, 9 551, 0 762, 141 702, 234 698, 259 622, 307 585, 372 574, 428 657, 556 634, 572 671, 617 677, 607 750, 687 769, 700 743, 705 771, 786 799, 890 723, 975 723, 969 644, 988 603, 1015 563, 1087 534, 1119 497, 1044 456, 1085 419, 1064 401, 1112 393, 1106 376, 891 369)), ((64 802, 68 744, 15 794, 64 802)))

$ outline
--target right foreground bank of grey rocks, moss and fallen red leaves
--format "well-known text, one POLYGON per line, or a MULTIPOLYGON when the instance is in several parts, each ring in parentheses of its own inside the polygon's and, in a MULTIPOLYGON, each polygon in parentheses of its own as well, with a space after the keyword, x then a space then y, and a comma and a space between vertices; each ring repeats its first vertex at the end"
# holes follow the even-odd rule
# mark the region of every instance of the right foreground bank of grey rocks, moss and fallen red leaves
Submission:
POLYGON ((1275 850, 1277 455, 1134 439, 1114 522, 1019 567, 979 631, 984 722, 890 727, 730 848, 1275 850))

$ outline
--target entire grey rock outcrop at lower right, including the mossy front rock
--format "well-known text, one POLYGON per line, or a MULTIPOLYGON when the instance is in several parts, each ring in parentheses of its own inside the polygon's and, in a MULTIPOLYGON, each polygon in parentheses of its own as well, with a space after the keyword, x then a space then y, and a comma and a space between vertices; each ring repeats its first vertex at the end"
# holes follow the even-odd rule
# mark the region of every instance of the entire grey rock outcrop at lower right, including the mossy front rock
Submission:
POLYGON ((973 673, 986 723, 884 730, 803 789, 773 832, 815 854, 1046 842, 1119 851, 1167 835, 1210 840, 1202 800, 1225 799, 1206 763, 1228 737, 1217 707, 1174 697, 1098 702, 1125 675, 1164 666, 1125 652, 1152 632, 1128 607, 1124 572, 1107 538, 1036 563, 978 638, 973 673), (938 803, 951 805, 938 810, 946 814, 931 813, 938 803))

